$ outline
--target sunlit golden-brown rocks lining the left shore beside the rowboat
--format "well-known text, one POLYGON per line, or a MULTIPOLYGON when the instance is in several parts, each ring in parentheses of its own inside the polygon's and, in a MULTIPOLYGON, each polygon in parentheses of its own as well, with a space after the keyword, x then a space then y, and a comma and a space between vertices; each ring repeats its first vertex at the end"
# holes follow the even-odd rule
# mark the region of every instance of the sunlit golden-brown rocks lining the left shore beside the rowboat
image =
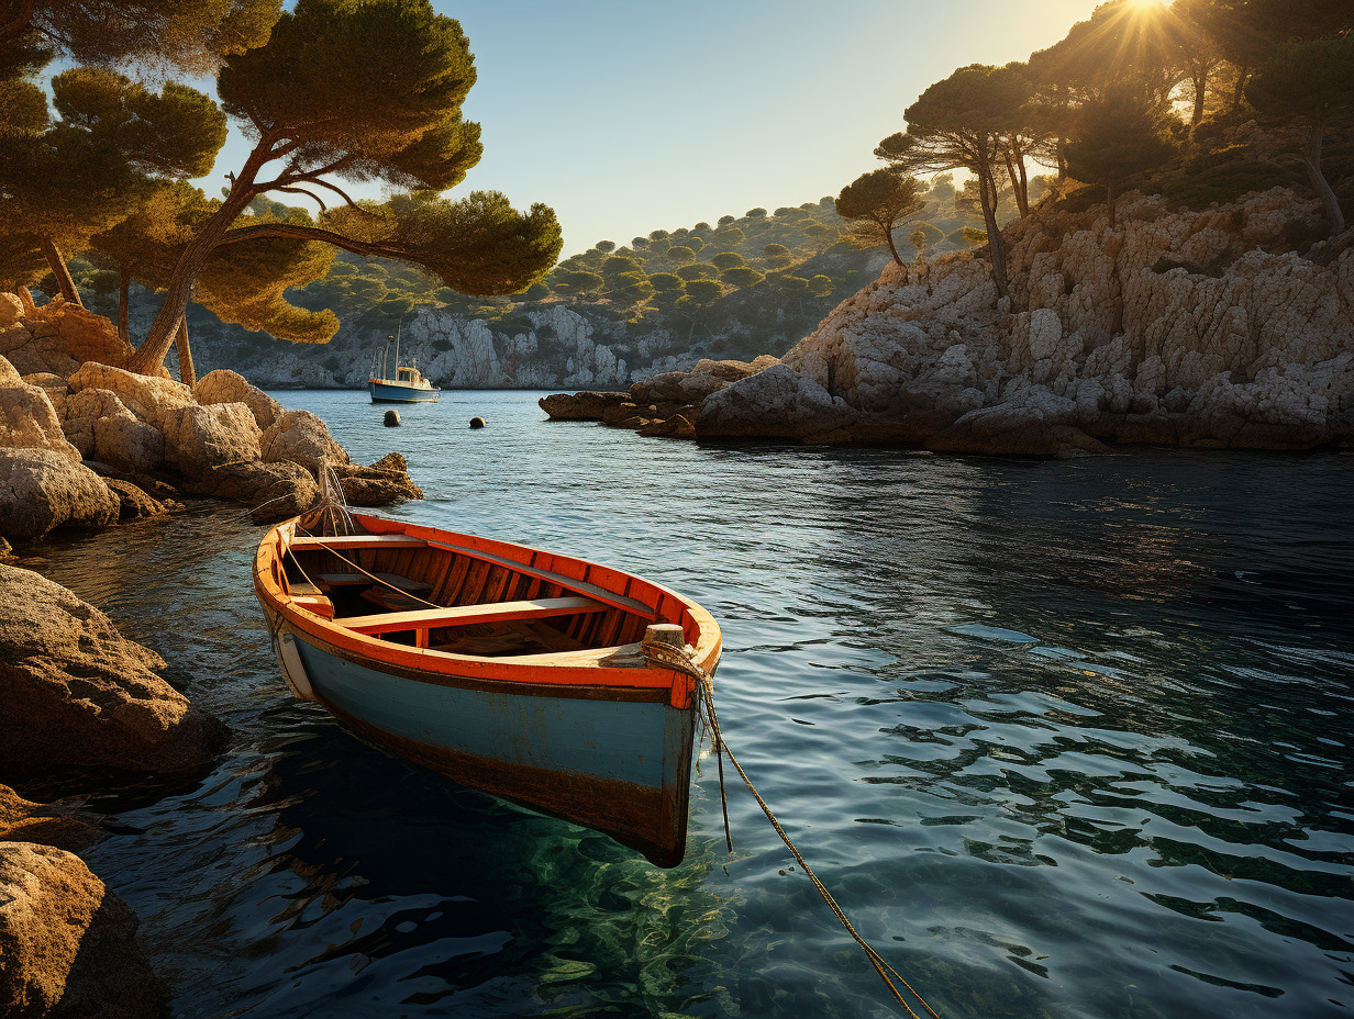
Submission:
POLYGON ((283 410, 236 372, 192 387, 133 373, 111 322, 26 296, 0 294, 0 1015, 149 1019, 169 992, 137 918, 77 855, 107 834, 28 796, 203 774, 229 732, 164 678, 154 651, 4 563, 9 543, 206 499, 267 524, 317 505, 322 479, 353 506, 422 493, 399 453, 355 464, 318 417, 283 410))

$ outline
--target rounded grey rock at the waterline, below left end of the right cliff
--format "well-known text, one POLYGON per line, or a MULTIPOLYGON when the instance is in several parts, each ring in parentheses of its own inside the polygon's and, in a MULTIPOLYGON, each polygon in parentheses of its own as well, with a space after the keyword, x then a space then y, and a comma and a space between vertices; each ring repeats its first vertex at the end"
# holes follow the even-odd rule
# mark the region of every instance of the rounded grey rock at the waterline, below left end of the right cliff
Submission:
POLYGON ((858 414, 841 397, 779 364, 708 397, 696 418, 700 436, 800 436, 831 432, 858 414))

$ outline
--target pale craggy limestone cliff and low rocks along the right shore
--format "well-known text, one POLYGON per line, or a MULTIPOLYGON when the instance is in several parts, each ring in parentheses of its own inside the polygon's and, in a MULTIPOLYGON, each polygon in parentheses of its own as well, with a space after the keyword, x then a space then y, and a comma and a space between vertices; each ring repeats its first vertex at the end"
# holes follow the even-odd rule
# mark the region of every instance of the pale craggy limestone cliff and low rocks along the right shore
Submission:
POLYGON ((890 265, 781 359, 701 361, 542 407, 647 436, 1085 456, 1113 445, 1303 451, 1354 441, 1354 230, 1307 244, 1285 188, 1202 212, 1164 199, 1007 227, 982 253, 890 265))

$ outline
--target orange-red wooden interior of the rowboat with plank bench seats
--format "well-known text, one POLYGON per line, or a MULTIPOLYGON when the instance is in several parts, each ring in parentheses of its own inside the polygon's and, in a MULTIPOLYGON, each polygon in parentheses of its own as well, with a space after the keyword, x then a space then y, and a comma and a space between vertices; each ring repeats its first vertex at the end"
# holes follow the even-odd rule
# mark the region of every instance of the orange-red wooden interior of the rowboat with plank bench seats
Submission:
POLYGON ((566 574, 550 553, 515 560, 504 551, 406 535, 298 535, 283 575, 299 608, 336 625, 475 658, 621 652, 650 622, 682 618, 681 602, 662 589, 649 595, 658 594, 657 610, 634 597, 638 578, 578 560, 567 560, 566 574))

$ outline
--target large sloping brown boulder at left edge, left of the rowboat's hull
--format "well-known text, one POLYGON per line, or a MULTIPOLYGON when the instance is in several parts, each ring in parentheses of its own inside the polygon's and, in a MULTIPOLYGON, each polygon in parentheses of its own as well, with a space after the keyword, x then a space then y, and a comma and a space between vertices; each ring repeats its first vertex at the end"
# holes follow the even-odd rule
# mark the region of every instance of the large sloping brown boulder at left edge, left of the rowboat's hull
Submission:
POLYGON ((209 763, 225 727, 157 674, 164 664, 65 587, 0 564, 0 773, 209 763))

